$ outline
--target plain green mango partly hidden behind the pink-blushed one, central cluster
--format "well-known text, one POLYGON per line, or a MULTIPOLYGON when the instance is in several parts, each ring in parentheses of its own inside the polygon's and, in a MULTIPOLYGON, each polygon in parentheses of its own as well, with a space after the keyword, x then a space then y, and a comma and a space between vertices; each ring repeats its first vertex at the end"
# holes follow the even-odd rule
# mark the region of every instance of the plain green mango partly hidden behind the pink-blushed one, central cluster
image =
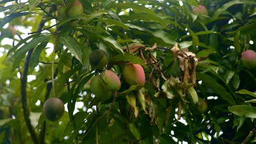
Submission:
POLYGON ((103 83, 100 79, 101 79, 100 75, 96 75, 92 77, 91 84, 90 84, 91 92, 96 97, 99 97, 102 100, 107 100, 111 97, 112 92, 103 86, 103 83))

